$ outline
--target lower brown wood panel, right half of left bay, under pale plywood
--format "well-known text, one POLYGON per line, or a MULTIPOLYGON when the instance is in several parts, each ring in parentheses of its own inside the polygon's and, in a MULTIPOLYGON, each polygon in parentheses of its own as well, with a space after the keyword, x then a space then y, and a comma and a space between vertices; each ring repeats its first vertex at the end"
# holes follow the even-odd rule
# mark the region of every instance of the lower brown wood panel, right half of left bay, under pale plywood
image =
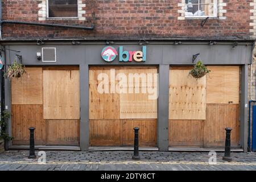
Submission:
POLYGON ((79 146, 79 120, 47 120, 46 133, 48 145, 79 146))

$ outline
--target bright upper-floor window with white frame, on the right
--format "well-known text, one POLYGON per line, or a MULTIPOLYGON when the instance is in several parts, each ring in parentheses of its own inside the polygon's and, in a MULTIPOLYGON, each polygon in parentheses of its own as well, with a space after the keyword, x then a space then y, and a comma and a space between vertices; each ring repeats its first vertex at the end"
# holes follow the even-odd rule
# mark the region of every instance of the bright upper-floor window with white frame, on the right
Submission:
POLYGON ((185 17, 217 17, 217 0, 185 0, 185 17))

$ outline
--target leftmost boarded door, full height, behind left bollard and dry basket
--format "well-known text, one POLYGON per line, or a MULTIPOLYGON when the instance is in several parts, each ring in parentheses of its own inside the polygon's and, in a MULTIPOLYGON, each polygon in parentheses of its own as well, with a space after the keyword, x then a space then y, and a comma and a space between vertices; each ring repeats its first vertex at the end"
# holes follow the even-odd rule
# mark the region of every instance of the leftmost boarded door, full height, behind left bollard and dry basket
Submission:
POLYGON ((29 144, 28 128, 35 127, 35 144, 46 143, 43 119, 43 69, 26 68, 22 78, 11 78, 11 135, 13 145, 29 144))

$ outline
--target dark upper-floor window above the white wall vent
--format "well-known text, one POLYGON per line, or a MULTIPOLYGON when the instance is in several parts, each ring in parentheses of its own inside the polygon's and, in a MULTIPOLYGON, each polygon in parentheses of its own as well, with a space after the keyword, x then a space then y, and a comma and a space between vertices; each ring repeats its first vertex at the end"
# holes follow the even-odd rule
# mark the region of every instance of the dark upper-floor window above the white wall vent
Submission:
POLYGON ((49 18, 71 18, 78 16, 77 0, 48 0, 49 18))

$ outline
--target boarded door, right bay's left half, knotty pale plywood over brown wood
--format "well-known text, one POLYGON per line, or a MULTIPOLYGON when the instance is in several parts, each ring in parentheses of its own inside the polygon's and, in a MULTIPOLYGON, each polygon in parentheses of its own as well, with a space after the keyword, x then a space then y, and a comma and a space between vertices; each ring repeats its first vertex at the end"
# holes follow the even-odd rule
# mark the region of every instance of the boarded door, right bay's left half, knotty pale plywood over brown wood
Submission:
POLYGON ((203 146, 206 78, 189 77, 192 67, 171 67, 169 146, 203 146))

